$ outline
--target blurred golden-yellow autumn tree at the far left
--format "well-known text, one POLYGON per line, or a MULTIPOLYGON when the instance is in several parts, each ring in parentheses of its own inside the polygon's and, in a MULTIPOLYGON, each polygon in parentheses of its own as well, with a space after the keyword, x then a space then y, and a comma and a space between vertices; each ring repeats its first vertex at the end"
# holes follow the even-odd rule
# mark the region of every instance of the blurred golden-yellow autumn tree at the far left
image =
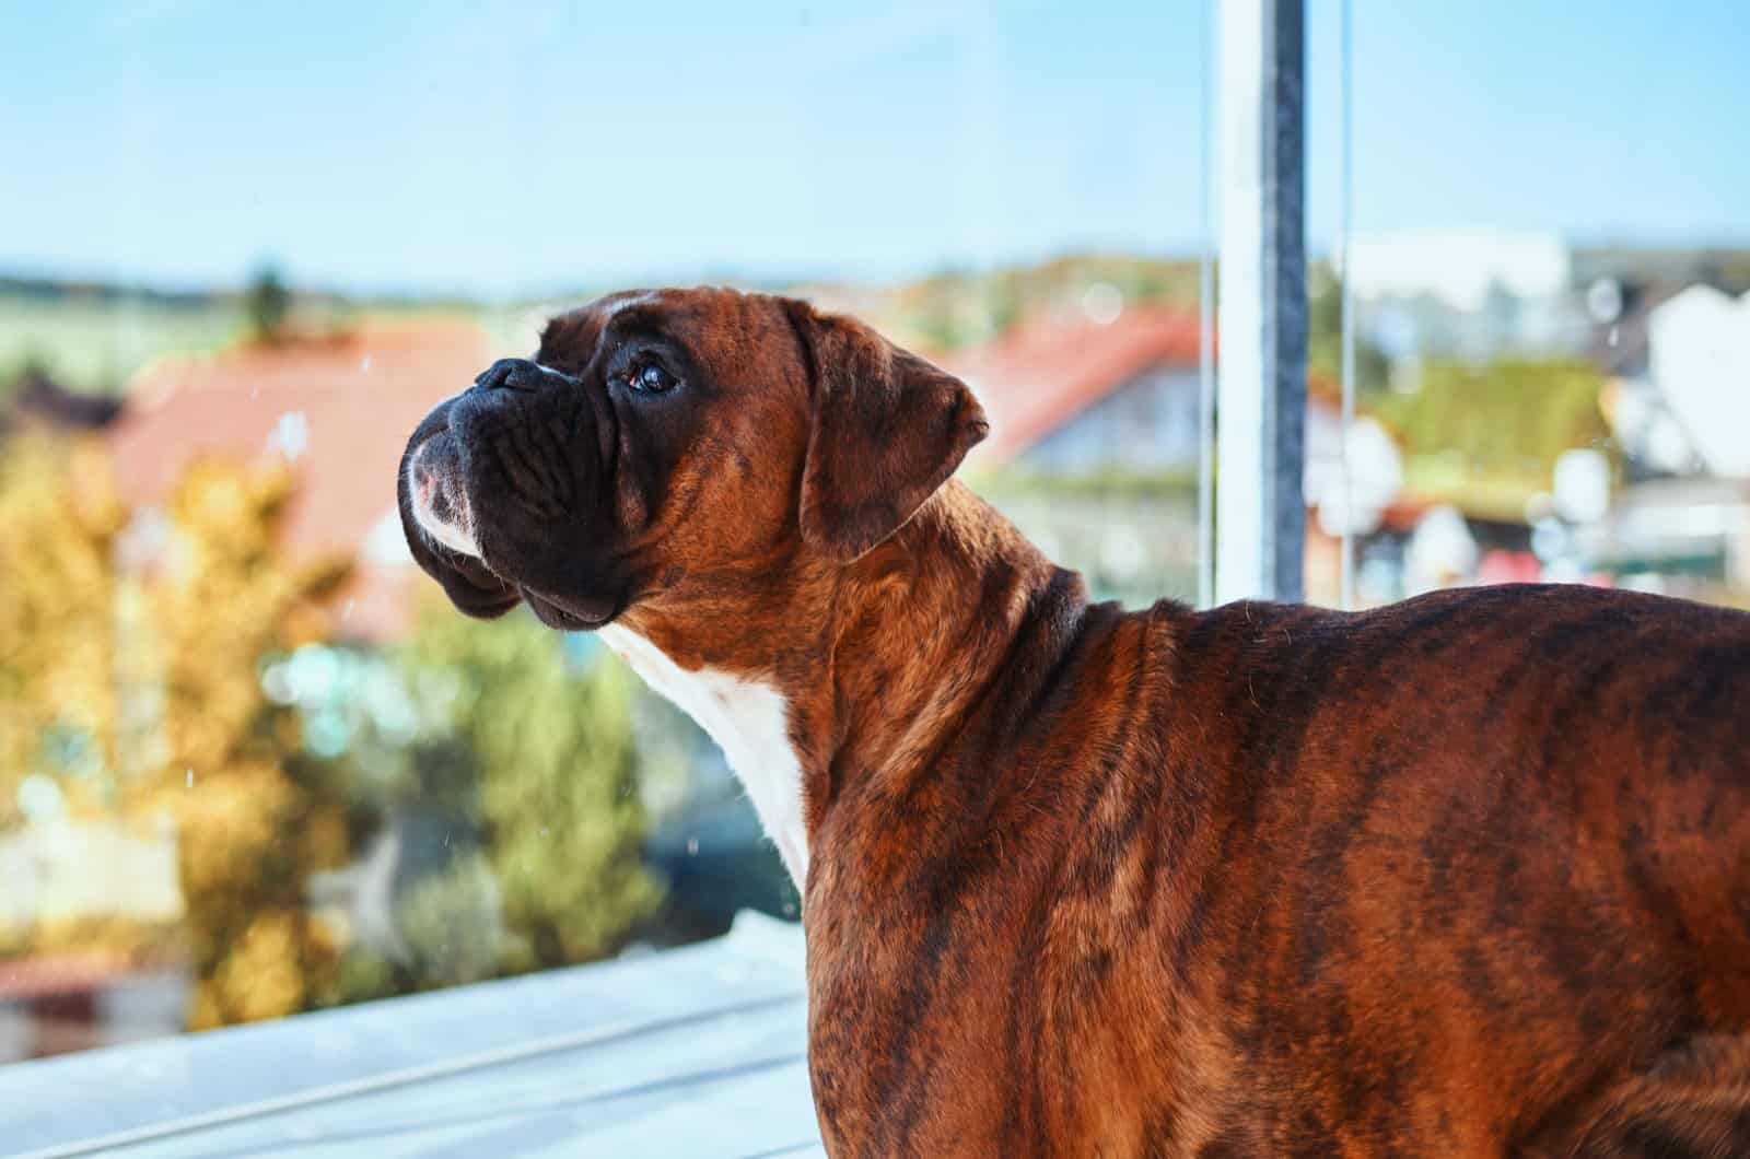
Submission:
POLYGON ((350 853, 341 802, 259 676, 326 634, 346 574, 280 558, 290 488, 278 466, 192 464, 140 548, 94 446, 16 439, 0 457, 0 828, 33 772, 75 816, 173 819, 196 1026, 299 1010, 338 959, 303 891, 350 853), (66 753, 79 769, 52 767, 66 753))

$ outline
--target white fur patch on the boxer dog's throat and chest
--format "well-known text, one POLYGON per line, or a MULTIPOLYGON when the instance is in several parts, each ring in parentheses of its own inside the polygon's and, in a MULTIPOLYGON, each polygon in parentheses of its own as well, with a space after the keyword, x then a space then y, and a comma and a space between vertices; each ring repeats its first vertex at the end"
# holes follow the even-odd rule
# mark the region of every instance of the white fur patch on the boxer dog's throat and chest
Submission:
POLYGON ((598 629, 597 636, 646 685, 710 734, 800 889, 808 875, 808 833, 802 821, 802 762, 789 742, 789 702, 763 681, 712 669, 690 672, 618 623, 598 629))

